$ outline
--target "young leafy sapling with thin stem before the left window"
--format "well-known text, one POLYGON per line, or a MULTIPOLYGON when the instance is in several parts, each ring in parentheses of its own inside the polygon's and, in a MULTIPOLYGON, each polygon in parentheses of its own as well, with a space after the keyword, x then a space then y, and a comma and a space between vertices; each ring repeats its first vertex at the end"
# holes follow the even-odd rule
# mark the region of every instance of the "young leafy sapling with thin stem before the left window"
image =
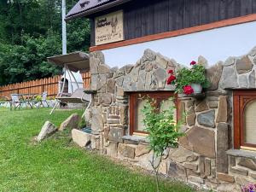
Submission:
MULTIPOLYGON (((173 101, 173 98, 170 98, 173 101)), ((153 158, 150 161, 154 169, 157 191, 159 189, 159 167, 162 160, 162 155, 166 148, 176 148, 177 138, 182 137, 183 133, 178 129, 180 124, 176 123, 175 107, 170 107, 168 110, 160 111, 156 108, 156 101, 150 97, 146 98, 146 103, 142 110, 145 125, 145 130, 148 131, 148 139, 150 149, 153 150, 153 158)))

